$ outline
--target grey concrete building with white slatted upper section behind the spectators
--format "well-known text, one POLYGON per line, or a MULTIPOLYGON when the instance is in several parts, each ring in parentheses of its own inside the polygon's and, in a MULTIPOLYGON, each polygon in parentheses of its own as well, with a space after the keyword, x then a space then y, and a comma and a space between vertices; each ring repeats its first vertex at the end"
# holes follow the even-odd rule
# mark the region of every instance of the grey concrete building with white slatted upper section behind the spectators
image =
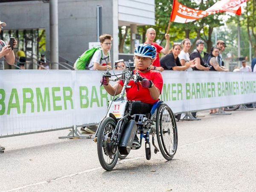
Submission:
MULTIPOLYGON (((98 40, 97 6, 102 7, 102 34, 113 36, 112 62, 118 59, 118 26, 134 28, 154 25, 154 0, 58 0, 58 45, 61 57, 74 62, 88 49, 89 42, 98 40)), ((13 36, 15 30, 26 33, 45 30, 48 58, 51 52, 49 14, 49 2, 41 0, 0 3, 0 20, 7 23, 3 31, 9 31, 9 35, 13 36)), ((5 38, 7 41, 8 37, 5 38)))

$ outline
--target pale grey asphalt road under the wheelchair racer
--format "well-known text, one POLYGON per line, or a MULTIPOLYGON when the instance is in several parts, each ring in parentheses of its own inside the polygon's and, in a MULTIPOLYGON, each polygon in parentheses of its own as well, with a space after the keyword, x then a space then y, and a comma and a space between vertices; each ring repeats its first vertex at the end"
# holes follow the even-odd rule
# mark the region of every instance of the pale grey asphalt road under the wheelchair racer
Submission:
POLYGON ((69 130, 0 139, 0 192, 255 191, 256 110, 178 122, 178 148, 166 161, 132 150, 101 168, 92 139, 58 139, 69 130))

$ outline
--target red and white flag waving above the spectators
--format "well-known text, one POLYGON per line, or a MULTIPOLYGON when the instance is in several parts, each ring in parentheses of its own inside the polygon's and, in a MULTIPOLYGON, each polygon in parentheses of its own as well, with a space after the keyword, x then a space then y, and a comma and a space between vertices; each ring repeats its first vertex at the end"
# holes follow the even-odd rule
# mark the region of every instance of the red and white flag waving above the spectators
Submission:
POLYGON ((186 7, 177 0, 173 0, 170 20, 176 23, 188 23, 218 12, 232 12, 241 15, 240 5, 246 1, 247 0, 220 0, 206 11, 202 11, 186 7))

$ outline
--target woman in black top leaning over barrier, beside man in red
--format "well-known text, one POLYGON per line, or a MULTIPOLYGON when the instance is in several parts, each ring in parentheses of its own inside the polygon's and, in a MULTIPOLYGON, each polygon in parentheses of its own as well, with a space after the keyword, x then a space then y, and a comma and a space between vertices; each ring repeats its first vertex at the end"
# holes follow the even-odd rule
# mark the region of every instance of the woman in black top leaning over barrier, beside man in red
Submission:
POLYGON ((164 70, 175 70, 183 71, 188 69, 192 64, 195 63, 194 60, 187 62, 184 66, 181 65, 178 55, 180 54, 181 46, 180 44, 174 44, 169 54, 161 58, 160 64, 164 70))

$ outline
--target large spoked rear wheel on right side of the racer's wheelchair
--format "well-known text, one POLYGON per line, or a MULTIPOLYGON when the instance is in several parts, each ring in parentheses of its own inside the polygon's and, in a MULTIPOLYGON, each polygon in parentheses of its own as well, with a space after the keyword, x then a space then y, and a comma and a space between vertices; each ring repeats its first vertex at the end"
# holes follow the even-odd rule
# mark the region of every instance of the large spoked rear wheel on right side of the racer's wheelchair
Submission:
POLYGON ((178 145, 177 124, 171 108, 164 103, 157 109, 156 134, 163 157, 172 160, 178 145))

